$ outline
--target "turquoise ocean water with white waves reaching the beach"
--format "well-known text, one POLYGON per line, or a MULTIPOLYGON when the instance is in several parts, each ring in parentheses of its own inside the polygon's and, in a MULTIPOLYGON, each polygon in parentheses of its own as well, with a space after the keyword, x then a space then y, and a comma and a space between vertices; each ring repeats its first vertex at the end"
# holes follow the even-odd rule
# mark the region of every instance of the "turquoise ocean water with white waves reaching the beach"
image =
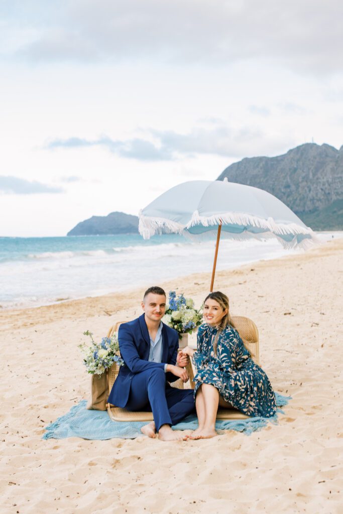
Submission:
MULTIPOLYGON (((343 232, 319 232, 327 241, 343 232)), ((67 299, 149 287, 189 273, 208 272, 214 241, 189 242, 182 236, 0 237, 0 306, 20 308, 67 299)), ((302 250, 285 250, 277 240, 223 239, 217 270, 302 250)))

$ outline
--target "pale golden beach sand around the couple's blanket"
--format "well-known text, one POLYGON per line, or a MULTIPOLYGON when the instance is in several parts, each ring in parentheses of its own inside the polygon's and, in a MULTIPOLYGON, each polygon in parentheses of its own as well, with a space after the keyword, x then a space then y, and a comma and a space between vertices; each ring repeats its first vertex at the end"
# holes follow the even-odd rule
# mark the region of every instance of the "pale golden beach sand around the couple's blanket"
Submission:
MULTIPOLYGON (((142 290, 0 313, 0 512, 342 512, 343 241, 221 271, 231 314, 259 327, 261 365, 292 395, 278 425, 210 440, 42 440, 88 395, 77 345, 140 314, 142 290)), ((201 303, 209 273, 160 284, 201 303)), ((151 284, 147 284, 149 286, 151 284)))

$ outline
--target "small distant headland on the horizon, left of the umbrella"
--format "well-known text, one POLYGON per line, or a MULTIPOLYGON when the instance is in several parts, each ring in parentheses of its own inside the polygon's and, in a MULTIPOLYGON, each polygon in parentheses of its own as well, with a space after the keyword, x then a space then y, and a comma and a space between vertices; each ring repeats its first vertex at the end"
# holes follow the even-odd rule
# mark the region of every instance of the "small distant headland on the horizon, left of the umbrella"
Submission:
POLYGON ((107 216, 92 216, 78 223, 67 235, 138 234, 138 216, 111 212, 107 216))

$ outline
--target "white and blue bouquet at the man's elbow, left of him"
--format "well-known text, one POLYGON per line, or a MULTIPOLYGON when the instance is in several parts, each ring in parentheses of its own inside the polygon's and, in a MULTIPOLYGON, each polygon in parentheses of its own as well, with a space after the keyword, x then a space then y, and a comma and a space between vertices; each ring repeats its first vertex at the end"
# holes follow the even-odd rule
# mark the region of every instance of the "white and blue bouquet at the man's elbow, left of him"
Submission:
POLYGON ((86 343, 79 344, 88 373, 101 375, 109 370, 114 362, 118 366, 123 365, 124 361, 120 356, 118 338, 115 334, 111 338, 103 337, 100 344, 94 341, 92 332, 87 330, 83 334, 89 336, 92 341, 91 346, 87 346, 86 343))

